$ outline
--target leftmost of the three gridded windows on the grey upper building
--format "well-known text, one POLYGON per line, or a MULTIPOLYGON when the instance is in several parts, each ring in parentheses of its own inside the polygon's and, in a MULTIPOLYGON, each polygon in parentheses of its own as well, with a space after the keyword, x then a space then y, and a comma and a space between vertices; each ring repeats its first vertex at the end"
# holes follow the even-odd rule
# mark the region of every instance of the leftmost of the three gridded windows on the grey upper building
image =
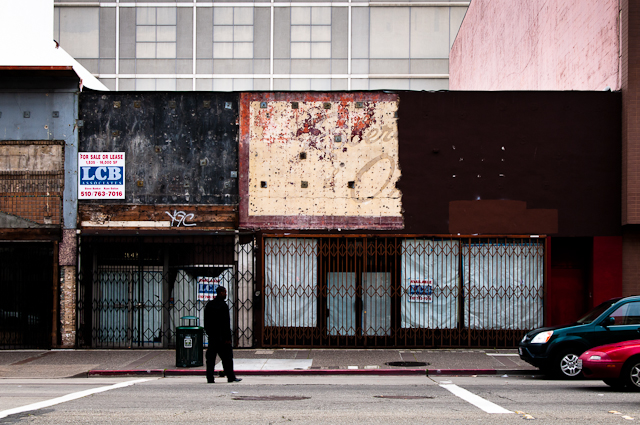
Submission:
POLYGON ((136 58, 176 57, 175 7, 139 7, 136 9, 136 58))

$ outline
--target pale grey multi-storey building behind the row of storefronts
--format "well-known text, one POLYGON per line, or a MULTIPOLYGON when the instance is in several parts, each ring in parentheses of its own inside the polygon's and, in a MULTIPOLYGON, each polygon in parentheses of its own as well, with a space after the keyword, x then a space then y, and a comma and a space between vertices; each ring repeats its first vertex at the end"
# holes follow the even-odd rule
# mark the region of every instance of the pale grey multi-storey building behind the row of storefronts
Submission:
POLYGON ((111 90, 442 90, 469 1, 55 0, 111 90))

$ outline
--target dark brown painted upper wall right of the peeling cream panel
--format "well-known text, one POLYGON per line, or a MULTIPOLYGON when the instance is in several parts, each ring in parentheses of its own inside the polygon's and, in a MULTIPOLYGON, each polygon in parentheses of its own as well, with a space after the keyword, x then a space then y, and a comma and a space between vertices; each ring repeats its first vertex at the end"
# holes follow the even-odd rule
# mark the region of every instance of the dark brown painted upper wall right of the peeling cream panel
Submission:
POLYGON ((398 130, 405 233, 621 234, 620 93, 401 92, 398 130))

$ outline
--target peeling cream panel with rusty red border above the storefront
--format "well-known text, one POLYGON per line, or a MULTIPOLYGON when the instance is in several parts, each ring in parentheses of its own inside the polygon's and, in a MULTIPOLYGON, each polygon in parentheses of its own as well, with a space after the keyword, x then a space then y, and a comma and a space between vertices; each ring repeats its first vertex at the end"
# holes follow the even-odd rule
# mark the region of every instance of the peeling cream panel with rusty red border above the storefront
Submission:
POLYGON ((241 95, 240 226, 401 229, 398 97, 241 95))

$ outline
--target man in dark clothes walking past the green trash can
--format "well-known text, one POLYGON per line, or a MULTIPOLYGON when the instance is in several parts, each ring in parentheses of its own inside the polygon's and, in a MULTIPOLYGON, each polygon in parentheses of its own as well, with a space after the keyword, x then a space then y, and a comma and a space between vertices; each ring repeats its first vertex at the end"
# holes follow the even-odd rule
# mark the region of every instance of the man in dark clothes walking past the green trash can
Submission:
POLYGON ((204 308, 204 330, 209 336, 207 348, 207 382, 213 384, 213 369, 216 365, 216 354, 222 360, 222 368, 228 382, 240 382, 233 371, 233 350, 231 348, 231 319, 229 307, 225 300, 227 290, 218 286, 216 297, 204 308))

